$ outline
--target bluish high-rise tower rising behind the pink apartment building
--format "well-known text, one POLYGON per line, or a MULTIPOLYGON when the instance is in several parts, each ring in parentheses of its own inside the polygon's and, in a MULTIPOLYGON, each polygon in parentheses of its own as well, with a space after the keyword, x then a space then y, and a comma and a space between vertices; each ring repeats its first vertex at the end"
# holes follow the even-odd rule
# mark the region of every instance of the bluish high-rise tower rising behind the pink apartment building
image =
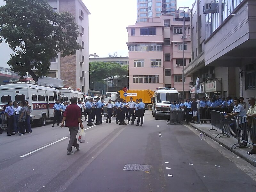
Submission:
POLYGON ((159 17, 161 11, 169 15, 176 10, 177 0, 137 0, 137 23, 148 22, 148 18, 159 17), (172 12, 171 12, 172 11, 172 12))

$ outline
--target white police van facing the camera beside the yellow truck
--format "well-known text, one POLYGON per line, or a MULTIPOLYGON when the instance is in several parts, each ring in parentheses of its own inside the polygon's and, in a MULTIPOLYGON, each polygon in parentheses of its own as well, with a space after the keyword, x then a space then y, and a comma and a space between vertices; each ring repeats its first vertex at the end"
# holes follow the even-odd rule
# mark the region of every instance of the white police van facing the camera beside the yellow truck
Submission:
POLYGON ((175 88, 159 87, 152 98, 152 115, 157 119, 159 116, 170 116, 170 104, 172 101, 180 103, 179 92, 175 88))

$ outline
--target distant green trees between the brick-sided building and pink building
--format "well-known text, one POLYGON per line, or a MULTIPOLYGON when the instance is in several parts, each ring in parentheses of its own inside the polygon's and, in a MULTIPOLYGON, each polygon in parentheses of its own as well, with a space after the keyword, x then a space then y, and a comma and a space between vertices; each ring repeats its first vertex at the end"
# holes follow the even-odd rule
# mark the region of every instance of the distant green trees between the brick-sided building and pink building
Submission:
POLYGON ((90 62, 90 85, 92 82, 103 82, 103 80, 110 76, 119 76, 120 78, 125 78, 128 76, 127 66, 121 66, 114 62, 90 62))

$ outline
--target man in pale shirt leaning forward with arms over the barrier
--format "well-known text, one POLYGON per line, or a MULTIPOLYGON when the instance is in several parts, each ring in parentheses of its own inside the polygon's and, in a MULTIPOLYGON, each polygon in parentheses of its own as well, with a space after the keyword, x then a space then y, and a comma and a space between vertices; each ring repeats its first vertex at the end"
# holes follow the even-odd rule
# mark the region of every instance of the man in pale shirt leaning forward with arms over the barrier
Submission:
MULTIPOLYGON (((234 108, 233 108, 233 111, 232 113, 227 113, 226 116, 224 116, 225 118, 232 118, 234 116, 238 117, 238 116, 246 116, 246 111, 245 109, 243 108, 242 105, 240 105, 240 100, 239 99, 234 99, 234 108)), ((244 122, 246 123, 246 122, 244 122)), ((242 131, 243 131, 243 139, 244 140, 247 140, 247 131, 246 131, 246 126, 241 126, 242 128, 244 128, 242 131)), ((231 123, 230 124, 230 128, 231 130, 234 132, 235 134, 235 137, 238 137, 237 134, 236 134, 236 122, 234 123, 231 123)), ((243 142, 242 145, 247 145, 246 142, 243 142)))

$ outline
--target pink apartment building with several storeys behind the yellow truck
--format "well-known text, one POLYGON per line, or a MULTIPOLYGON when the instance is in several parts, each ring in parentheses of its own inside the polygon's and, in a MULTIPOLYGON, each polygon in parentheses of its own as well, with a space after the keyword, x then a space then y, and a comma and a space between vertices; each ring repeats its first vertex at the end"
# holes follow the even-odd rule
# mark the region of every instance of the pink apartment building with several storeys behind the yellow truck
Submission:
MULTIPOLYGON (((190 62, 190 18, 185 21, 185 65, 190 62)), ((175 87, 182 93, 183 19, 172 15, 128 26, 129 89, 175 87)), ((185 77, 188 98, 191 77, 185 77)), ((181 94, 182 95, 182 94, 181 94)))

